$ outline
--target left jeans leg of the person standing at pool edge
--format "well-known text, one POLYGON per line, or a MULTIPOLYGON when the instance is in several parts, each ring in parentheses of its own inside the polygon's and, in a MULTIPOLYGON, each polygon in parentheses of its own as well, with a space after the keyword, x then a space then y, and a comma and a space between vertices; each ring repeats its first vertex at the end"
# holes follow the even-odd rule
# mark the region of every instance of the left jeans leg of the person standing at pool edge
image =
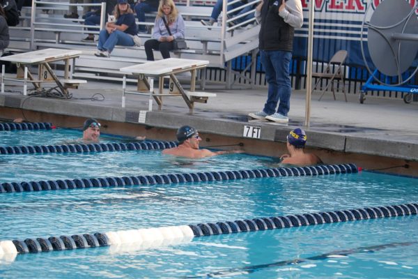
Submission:
POLYGON ((265 102, 263 111, 266 114, 274 114, 276 112, 277 103, 279 102, 279 88, 277 85, 276 71, 271 57, 272 50, 260 50, 261 64, 265 70, 265 80, 268 83, 268 97, 265 102))

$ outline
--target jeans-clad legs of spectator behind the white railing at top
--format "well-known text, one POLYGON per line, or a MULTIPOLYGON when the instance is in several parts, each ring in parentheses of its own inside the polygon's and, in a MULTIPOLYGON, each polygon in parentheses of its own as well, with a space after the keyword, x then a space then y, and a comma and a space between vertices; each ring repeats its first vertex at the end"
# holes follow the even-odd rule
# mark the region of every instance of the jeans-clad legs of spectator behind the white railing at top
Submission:
MULTIPOLYGON (((232 2, 233 0, 228 0, 228 3, 232 2)), ((222 5, 224 3, 224 0, 217 0, 215 3, 215 6, 213 6, 212 9, 212 14, 210 15, 210 19, 209 21, 205 21, 205 20, 201 20, 201 23, 203 25, 206 25, 208 27, 211 27, 215 22, 217 22, 217 18, 219 17, 219 15, 222 13, 222 5)), ((239 8, 242 5, 245 5, 246 3, 248 3, 247 0, 243 0, 243 1, 238 1, 235 3, 231 3, 231 5, 228 5, 227 10, 233 10, 235 8, 239 8)), ((233 13, 232 15, 234 16, 238 16, 238 15, 242 15, 244 13, 249 12, 250 10, 252 10, 254 8, 254 6, 246 6, 245 8, 242 8, 240 11, 233 13)), ((231 14, 230 14, 231 15, 231 14)), ((245 20, 250 20, 251 18, 254 18, 254 13, 249 13, 248 15, 244 16, 244 17, 240 17, 235 21, 229 22, 230 26, 233 26, 235 24, 238 24, 240 22, 244 22, 245 20)))

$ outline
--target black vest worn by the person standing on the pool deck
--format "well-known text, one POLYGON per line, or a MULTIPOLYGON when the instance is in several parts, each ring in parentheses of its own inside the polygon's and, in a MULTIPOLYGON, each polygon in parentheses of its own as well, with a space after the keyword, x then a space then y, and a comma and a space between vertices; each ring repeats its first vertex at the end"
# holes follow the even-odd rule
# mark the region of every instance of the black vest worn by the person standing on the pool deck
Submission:
POLYGON ((260 50, 293 50, 295 29, 279 16, 282 0, 265 0, 261 8, 261 29, 258 33, 260 50))

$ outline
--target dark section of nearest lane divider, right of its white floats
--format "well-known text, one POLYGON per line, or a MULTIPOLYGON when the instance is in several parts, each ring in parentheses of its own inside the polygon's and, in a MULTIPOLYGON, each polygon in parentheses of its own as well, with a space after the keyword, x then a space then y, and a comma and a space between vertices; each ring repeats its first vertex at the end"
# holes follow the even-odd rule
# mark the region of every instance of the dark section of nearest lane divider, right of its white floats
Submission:
POLYGON ((418 204, 401 204, 302 215, 254 218, 251 220, 235 220, 233 222, 202 223, 198 225, 189 225, 189 227, 192 229, 194 236, 212 236, 217 234, 256 232, 265 229, 283 229, 285 227, 301 227, 353 220, 409 216, 417 215, 417 213, 418 204))

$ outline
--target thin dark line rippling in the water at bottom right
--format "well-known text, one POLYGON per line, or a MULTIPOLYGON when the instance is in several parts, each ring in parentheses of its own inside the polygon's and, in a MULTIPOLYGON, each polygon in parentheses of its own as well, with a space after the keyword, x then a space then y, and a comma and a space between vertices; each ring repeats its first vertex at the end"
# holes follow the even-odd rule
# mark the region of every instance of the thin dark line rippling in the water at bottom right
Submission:
POLYGON ((414 244, 417 244, 417 241, 394 242, 394 243, 388 243, 388 244, 382 244, 382 245, 376 245, 376 246, 364 246, 364 247, 359 247, 359 248, 353 248, 350 250, 336 250, 333 252, 327 252, 325 254, 316 255, 312 257, 286 259, 284 261, 272 262, 270 264, 257 264, 253 266, 242 266, 242 267, 237 267, 233 269, 225 269, 222 271, 216 271, 216 272, 208 273, 202 276, 185 276, 184 278, 212 278, 212 277, 219 277, 219 276, 232 276, 233 274, 236 275, 237 273, 249 274, 249 273, 254 273, 256 271, 260 271, 263 269, 270 269, 272 267, 277 267, 277 266, 289 266, 289 265, 293 266, 295 264, 302 264, 304 262, 309 262, 309 261, 321 261, 325 259, 330 259, 332 258, 332 256, 348 256, 351 254, 358 254, 358 253, 371 253, 371 252, 384 250, 387 248, 411 246, 414 244))

